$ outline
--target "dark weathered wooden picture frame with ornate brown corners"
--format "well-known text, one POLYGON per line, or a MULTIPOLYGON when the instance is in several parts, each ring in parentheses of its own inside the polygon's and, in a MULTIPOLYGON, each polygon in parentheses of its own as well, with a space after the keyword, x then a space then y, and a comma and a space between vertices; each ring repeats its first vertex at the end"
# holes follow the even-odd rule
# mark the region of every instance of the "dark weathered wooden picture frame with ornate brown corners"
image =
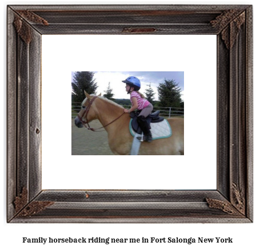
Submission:
POLYGON ((7 221, 253 221, 250 5, 7 6, 7 221), (216 190, 42 190, 42 34, 217 35, 216 190))

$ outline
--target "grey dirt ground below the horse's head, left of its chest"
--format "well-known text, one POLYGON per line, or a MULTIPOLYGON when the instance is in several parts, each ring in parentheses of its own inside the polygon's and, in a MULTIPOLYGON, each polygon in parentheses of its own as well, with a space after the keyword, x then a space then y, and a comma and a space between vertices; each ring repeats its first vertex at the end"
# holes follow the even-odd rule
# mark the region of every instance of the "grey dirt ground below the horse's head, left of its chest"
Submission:
MULTIPOLYGON (((90 127, 102 127, 98 120, 90 123, 90 127)), ((104 130, 102 128, 101 130, 104 130)), ((107 140, 107 132, 93 132, 86 128, 75 126, 74 118, 71 119, 72 150, 71 155, 114 155, 107 140)))

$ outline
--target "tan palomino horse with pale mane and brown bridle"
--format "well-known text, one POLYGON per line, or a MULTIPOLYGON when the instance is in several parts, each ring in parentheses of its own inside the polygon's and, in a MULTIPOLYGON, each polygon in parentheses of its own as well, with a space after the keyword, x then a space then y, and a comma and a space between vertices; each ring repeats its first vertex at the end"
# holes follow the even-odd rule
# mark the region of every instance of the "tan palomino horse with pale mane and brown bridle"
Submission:
MULTIPOLYGON (((85 92, 82 110, 75 118, 78 128, 86 127, 92 131, 89 122, 98 119, 109 137, 109 147, 115 155, 130 155, 133 136, 130 134, 130 115, 123 112, 123 107, 100 95, 89 95, 85 92), (87 126, 88 127, 87 127, 87 126)), ((169 138, 156 139, 152 142, 142 142, 139 155, 184 155, 184 119, 170 118, 173 134, 169 138)))

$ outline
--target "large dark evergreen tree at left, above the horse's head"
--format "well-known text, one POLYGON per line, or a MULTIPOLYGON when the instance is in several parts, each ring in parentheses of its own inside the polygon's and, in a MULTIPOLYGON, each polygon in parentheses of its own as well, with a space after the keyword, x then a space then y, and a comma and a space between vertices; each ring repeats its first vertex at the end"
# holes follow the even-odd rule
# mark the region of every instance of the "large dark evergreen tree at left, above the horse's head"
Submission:
POLYGON ((96 94, 98 88, 95 82, 94 72, 91 71, 76 71, 74 74, 73 82, 71 82, 72 92, 71 100, 72 102, 79 102, 85 99, 85 92, 88 94, 96 94))

